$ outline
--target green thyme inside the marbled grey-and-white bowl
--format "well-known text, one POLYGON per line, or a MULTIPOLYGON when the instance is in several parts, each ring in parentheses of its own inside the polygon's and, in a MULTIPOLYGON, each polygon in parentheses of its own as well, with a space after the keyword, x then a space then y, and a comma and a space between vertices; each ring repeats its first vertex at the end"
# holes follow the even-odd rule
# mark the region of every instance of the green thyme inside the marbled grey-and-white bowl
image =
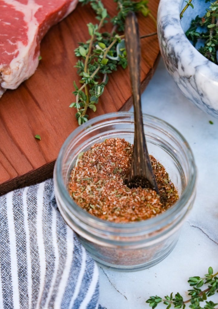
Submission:
POLYGON ((210 3, 203 17, 197 15, 191 21, 186 36, 192 41, 194 47, 199 40, 202 40, 203 46, 198 51, 208 60, 218 64, 218 0, 210 3), (199 32, 199 28, 202 29, 202 32, 199 32))

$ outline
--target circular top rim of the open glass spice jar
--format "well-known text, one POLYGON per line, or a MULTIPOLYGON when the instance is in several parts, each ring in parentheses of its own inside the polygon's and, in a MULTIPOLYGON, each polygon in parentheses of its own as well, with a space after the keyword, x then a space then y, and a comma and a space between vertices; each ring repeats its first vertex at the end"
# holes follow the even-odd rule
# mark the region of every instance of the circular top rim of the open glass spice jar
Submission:
POLYGON ((175 204, 172 207, 169 207, 166 211, 164 211, 161 214, 158 214, 155 217, 148 218, 146 220, 142 221, 137 221, 137 222, 126 222, 126 223, 121 223, 121 222, 111 222, 111 221, 106 221, 100 218, 97 218, 93 216, 92 214, 89 214, 87 211, 83 210, 79 205, 77 205, 73 199, 70 197, 70 194, 67 191, 67 188, 64 184, 63 178, 62 178, 62 160, 64 157, 64 150, 66 149, 67 145, 69 145, 69 142, 72 140, 74 136, 76 136, 80 131, 87 130, 89 129, 92 125, 96 124, 97 122, 102 122, 109 120, 111 118, 129 118, 129 121, 133 121, 134 123, 134 113, 133 112, 112 112, 112 113, 107 113, 104 115, 96 116, 92 118, 91 120, 88 121, 88 123, 83 123, 80 125, 78 128, 76 128, 65 140, 63 143, 59 154, 58 158, 55 163, 55 168, 54 168, 54 184, 55 188, 57 189, 58 192, 62 192, 61 198, 63 199, 65 205, 67 206, 68 210, 71 210, 70 207, 73 207, 76 209, 79 217, 83 218, 84 220, 87 219, 89 223, 93 226, 97 224, 97 226, 101 226, 103 229, 104 227, 107 228, 117 228, 119 230, 124 230, 128 228, 140 228, 144 226, 153 226, 153 225, 161 225, 161 222, 166 222, 168 218, 172 217, 173 214, 179 214, 180 210, 182 209, 183 205, 187 203, 187 201, 190 199, 194 188, 195 188, 195 183, 196 183, 196 166, 195 166, 195 161, 194 161, 194 155, 193 152, 186 141, 186 139, 183 137, 183 135, 175 129, 172 125, 170 125, 168 122, 152 115, 148 115, 143 113, 143 118, 150 119, 150 120, 155 120, 157 123, 164 125, 164 127, 168 128, 171 132, 174 132, 177 136, 182 139, 184 142, 184 145, 186 146, 186 152, 188 154, 188 160, 189 160, 189 170, 192 169, 192 173, 189 176, 188 182, 186 184, 186 187, 184 188, 184 191, 182 192, 181 196, 179 197, 179 200, 175 202, 175 204))

